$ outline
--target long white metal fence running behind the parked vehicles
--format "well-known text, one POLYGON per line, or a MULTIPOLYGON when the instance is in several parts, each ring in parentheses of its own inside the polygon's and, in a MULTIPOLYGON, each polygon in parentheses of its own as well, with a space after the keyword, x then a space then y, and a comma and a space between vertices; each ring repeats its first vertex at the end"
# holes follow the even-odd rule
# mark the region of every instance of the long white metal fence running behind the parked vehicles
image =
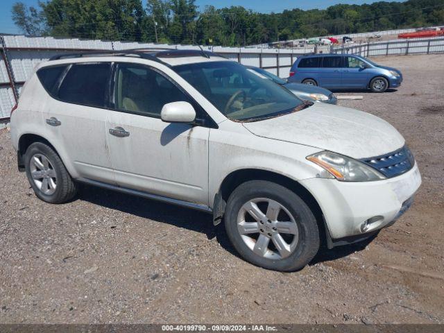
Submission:
MULTIPOLYGON (((0 36, 0 121, 7 121, 18 100, 20 90, 40 62, 60 53, 92 50, 123 50, 149 47, 199 49, 191 45, 167 45, 101 40, 56 39, 53 37, 0 36)), ((289 76, 293 62, 306 54, 306 49, 259 49, 203 46, 243 65, 261 67, 282 78, 289 76)), ((350 53, 361 56, 389 56, 444 52, 444 38, 392 40, 348 46, 316 46, 317 53, 350 53)))

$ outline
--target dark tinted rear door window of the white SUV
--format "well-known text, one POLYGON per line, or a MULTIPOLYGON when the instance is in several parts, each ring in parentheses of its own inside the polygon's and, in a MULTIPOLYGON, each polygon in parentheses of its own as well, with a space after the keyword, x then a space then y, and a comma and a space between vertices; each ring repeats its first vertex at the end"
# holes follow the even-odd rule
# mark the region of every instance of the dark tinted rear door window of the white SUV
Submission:
POLYGON ((58 97, 68 103, 102 108, 109 76, 110 64, 107 63, 72 65, 60 85, 58 97))

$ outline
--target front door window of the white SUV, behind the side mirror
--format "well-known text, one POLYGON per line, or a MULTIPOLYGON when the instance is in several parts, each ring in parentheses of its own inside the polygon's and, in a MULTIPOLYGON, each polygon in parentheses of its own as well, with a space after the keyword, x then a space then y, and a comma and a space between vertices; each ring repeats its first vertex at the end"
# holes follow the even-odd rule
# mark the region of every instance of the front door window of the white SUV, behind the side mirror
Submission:
POLYGON ((157 71, 139 65, 120 64, 114 89, 119 110, 160 117, 167 103, 187 101, 188 97, 157 71))

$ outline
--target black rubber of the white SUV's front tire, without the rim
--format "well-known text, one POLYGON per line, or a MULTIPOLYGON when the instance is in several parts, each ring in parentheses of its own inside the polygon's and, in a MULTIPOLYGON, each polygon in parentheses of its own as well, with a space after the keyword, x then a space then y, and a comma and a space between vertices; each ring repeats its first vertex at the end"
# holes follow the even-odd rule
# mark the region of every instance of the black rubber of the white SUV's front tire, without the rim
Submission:
MULTIPOLYGON (((274 271, 297 271, 314 258, 319 249, 318 223, 307 204, 293 191, 265 180, 251 180, 234 189, 225 210, 225 230, 239 255, 246 261, 274 271), (238 230, 237 217, 241 207, 255 198, 269 198, 284 206, 295 216, 298 228, 296 248, 288 257, 269 259, 262 257, 246 244, 238 230)), ((268 220, 269 221, 269 220, 268 220)), ((259 224, 258 224, 259 225, 259 224)), ((260 227, 261 225, 259 225, 260 227)), ((262 229, 261 229, 262 230, 262 229)), ((258 237, 260 234, 257 234, 258 237)), ((250 234, 248 234, 250 236, 250 234)), ((273 243, 272 239, 270 242, 273 243)), ((274 245, 273 245, 274 246, 274 245)), ((267 250, 268 251, 268 250, 267 250)))

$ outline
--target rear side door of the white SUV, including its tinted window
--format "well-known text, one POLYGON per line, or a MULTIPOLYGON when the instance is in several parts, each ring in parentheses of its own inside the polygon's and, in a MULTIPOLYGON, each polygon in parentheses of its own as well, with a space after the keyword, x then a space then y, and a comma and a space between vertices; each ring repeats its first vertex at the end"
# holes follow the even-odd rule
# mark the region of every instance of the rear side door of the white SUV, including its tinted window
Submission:
POLYGON ((43 112, 78 176, 103 182, 114 182, 105 135, 110 71, 110 62, 68 65, 43 112))

